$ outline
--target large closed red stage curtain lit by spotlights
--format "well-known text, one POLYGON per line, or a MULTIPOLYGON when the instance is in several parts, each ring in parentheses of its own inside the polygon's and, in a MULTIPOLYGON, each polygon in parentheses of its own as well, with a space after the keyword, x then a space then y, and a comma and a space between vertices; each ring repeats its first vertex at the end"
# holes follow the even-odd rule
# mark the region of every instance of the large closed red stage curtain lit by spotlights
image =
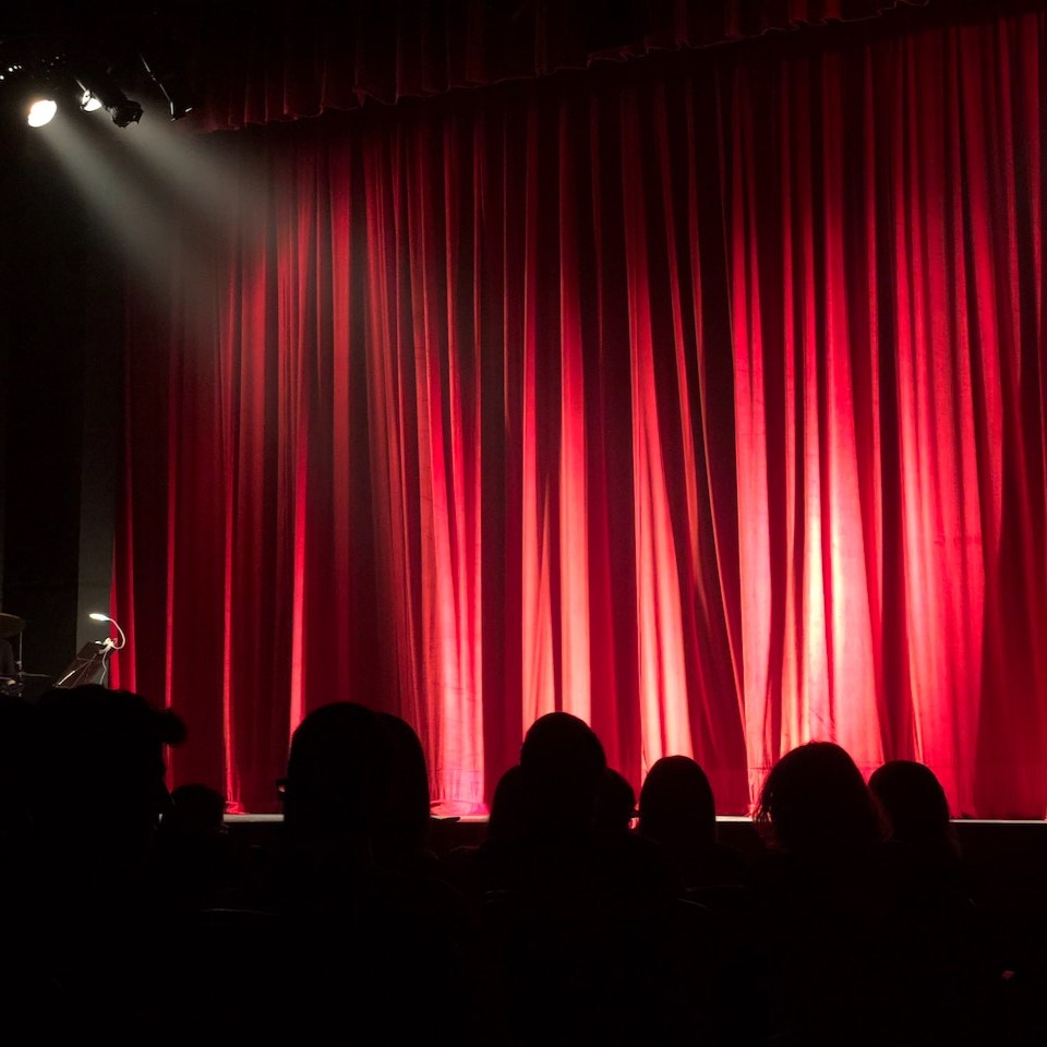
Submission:
POLYGON ((350 698, 416 726, 444 810, 566 709, 634 784, 694 754, 724 813, 832 738, 1042 817, 1045 43, 753 46, 201 143, 225 219, 180 210, 129 306, 113 612, 119 683, 189 721, 176 781, 273 809, 350 698))

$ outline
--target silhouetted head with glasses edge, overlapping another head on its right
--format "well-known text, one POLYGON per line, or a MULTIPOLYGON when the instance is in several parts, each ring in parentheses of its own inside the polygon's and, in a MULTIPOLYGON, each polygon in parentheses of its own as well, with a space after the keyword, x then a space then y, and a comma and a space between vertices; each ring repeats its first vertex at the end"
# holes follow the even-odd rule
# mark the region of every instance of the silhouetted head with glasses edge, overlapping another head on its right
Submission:
POLYGON ((389 786, 389 735, 352 701, 314 709, 291 736, 284 820, 299 841, 341 839, 370 846, 389 786))

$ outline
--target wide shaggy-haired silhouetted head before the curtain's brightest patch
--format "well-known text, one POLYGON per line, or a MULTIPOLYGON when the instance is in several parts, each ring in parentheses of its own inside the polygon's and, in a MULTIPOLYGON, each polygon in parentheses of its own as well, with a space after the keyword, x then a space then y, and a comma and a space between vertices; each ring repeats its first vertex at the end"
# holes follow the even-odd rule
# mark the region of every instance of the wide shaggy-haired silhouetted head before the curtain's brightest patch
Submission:
POLYGON ((854 760, 831 742, 808 742, 771 768, 756 813, 773 845, 795 853, 865 851, 881 839, 872 794, 854 760))

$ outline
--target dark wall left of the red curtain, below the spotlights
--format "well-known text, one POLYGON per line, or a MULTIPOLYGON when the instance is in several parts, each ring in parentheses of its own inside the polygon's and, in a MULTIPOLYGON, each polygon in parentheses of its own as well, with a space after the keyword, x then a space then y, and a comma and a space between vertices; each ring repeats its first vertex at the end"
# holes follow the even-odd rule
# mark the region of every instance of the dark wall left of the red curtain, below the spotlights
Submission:
POLYGON ((119 265, 38 132, 0 128, 0 610, 38 693, 106 635, 121 431, 119 265))

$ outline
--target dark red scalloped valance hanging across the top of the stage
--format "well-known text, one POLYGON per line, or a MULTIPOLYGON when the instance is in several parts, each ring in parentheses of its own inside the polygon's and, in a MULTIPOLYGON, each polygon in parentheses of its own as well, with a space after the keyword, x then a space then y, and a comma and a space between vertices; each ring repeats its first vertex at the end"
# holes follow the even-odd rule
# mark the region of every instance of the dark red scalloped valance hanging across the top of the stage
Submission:
MULTIPOLYGON (((193 23, 196 123, 230 130, 392 103, 593 60, 708 47, 928 0, 279 0, 232 3, 193 23)), ((948 0, 950 4, 956 0, 948 0)), ((970 2, 970 0, 964 0, 970 2)), ((1012 0, 1007 0, 1012 2, 1012 0)))

